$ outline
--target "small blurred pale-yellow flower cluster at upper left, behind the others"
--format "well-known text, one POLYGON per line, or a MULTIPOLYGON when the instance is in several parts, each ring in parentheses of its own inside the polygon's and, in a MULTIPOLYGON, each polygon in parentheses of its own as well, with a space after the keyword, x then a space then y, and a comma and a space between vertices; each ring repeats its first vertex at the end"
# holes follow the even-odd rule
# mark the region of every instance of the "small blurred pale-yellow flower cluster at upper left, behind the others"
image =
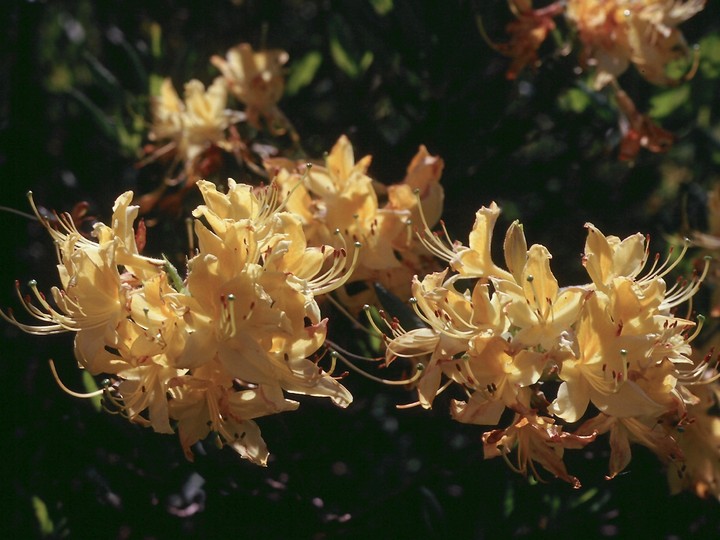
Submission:
MULTIPOLYGON (((251 130, 268 128, 271 135, 290 134, 295 145, 299 137, 290 121, 278 108, 285 87, 282 67, 288 60, 285 51, 254 51, 247 43, 231 48, 225 58, 212 56, 210 62, 220 71, 206 89, 192 79, 185 83, 184 99, 170 79, 164 79, 157 95, 152 96, 152 124, 146 156, 138 166, 163 160, 169 163, 163 183, 138 201, 141 214, 159 207, 179 214, 180 203, 195 183, 218 173, 227 156, 234 157, 243 169, 263 179, 267 174, 250 150, 251 141, 243 138, 238 126, 251 130), (244 111, 229 108, 234 98, 244 111), (180 185, 168 194, 168 186, 180 185)), ((223 177, 227 178, 226 175, 223 177)), ((217 179, 220 181, 220 178, 217 179)))

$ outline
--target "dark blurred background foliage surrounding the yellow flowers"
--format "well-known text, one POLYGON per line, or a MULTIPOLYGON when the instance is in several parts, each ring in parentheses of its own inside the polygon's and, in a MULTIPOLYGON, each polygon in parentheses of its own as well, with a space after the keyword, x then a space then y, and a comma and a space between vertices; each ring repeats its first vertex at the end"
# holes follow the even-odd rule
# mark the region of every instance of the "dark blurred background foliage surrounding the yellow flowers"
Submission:
MULTIPOLYGON (((542 5, 543 2, 536 2, 542 5)), ((621 133, 607 92, 556 39, 542 66, 508 81, 504 0, 8 0, 0 7, 0 204, 109 217, 115 197, 150 191, 157 167, 135 166, 147 142, 149 94, 217 75, 212 54, 239 43, 289 52, 280 107, 311 157, 347 134, 371 175, 397 182, 420 144, 445 160, 445 220, 463 239, 481 205, 497 201, 501 230, 525 224, 546 245, 561 284, 584 280, 583 224, 626 236, 707 227, 707 190, 720 164, 720 9, 711 0, 682 30, 700 46, 696 77, 652 87, 620 80, 638 109, 677 136, 666 154, 618 159, 621 133)), ((244 178, 236 178, 239 181, 244 178)), ((44 230, 0 214, 0 302, 17 306, 14 280, 56 282, 44 230)), ((172 234, 151 231, 159 243, 172 234)), ((342 332, 343 323, 337 323, 342 332)), ((447 403, 397 411, 410 400, 349 377, 347 411, 303 400, 299 412, 259 424, 267 469, 205 445, 185 461, 173 437, 98 413, 62 394, 83 387, 71 336, 38 340, 0 328, 2 529, 31 538, 643 538, 713 537, 717 501, 667 495, 661 465, 634 449, 607 482, 603 442, 568 455, 583 488, 537 485, 482 459, 481 428, 452 422, 447 403)))

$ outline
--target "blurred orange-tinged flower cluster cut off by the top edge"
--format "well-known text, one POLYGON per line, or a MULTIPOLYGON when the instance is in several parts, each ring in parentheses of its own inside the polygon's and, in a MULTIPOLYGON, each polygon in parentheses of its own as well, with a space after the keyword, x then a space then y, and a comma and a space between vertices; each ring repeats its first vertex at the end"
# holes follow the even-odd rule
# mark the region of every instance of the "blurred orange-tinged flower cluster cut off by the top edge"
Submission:
POLYGON ((636 110, 617 78, 630 65, 654 85, 675 85, 692 78, 697 51, 688 46, 678 26, 702 11, 705 0, 568 0, 537 9, 532 0, 508 0, 508 4, 515 15, 506 28, 510 40, 492 45, 512 58, 506 73, 509 79, 540 63, 538 51, 556 30, 555 18, 564 15, 580 42, 579 62, 590 71, 591 86, 615 91, 623 134, 620 159, 634 159, 641 147, 664 152, 672 146, 672 135, 636 110), (690 67, 681 75, 670 74, 678 61, 690 67))

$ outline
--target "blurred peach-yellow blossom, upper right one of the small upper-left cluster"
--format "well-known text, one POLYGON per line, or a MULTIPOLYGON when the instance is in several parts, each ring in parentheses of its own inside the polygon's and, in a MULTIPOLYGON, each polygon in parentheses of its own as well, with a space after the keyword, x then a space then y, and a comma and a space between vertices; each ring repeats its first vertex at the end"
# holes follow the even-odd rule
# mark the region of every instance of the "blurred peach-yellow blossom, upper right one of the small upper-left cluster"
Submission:
POLYGON ((273 121, 281 114, 277 102, 285 89, 285 51, 256 52, 248 43, 241 43, 229 49, 225 58, 215 55, 210 61, 222 73, 230 92, 247 107, 250 124, 259 127, 261 117, 273 121))

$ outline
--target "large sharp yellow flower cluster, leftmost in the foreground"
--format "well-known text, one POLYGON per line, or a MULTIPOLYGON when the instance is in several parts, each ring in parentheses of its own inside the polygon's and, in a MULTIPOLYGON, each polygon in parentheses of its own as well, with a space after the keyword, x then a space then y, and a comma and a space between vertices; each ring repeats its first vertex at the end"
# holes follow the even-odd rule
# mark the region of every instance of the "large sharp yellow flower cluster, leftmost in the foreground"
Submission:
POLYGON ((23 303, 44 324, 2 315, 38 335, 74 332, 80 366, 110 377, 106 407, 155 431, 177 431, 188 459, 212 432, 264 465, 268 452, 253 420, 296 409, 286 393, 329 397, 341 407, 352 401, 311 358, 327 332, 315 297, 350 276, 359 245, 350 256, 339 234, 308 247, 276 184, 228 183, 226 194, 198 184, 205 201, 193 212, 199 249, 185 280, 168 262, 138 253, 144 229, 133 229, 131 192, 117 199, 111 226, 95 226, 95 240, 69 216, 56 230, 36 212, 57 245, 56 307, 32 282, 36 303, 23 303))

